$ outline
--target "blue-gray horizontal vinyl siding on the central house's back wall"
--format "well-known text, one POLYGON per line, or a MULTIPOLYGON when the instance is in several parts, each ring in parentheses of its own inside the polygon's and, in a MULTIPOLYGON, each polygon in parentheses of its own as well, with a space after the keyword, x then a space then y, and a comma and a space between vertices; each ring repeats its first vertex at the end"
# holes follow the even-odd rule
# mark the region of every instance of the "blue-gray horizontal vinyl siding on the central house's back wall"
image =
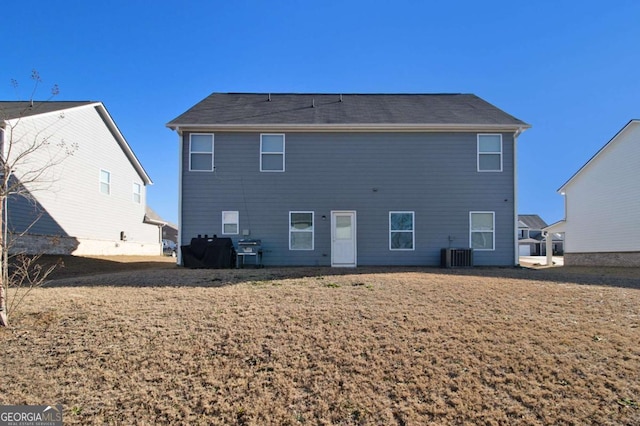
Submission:
POLYGON ((260 133, 215 133, 215 171, 188 171, 183 137, 182 244, 221 236, 221 212, 262 239, 267 265, 330 265, 331 211, 357 214, 358 265, 438 265, 469 247, 469 212, 495 212, 494 251, 476 265, 513 265, 513 135, 503 171, 477 171, 477 133, 286 133, 285 172, 261 173, 260 133), (315 213, 315 247, 290 251, 289 211, 315 213), (389 212, 415 212, 415 250, 389 250, 389 212), (450 241, 451 239, 451 241, 450 241))

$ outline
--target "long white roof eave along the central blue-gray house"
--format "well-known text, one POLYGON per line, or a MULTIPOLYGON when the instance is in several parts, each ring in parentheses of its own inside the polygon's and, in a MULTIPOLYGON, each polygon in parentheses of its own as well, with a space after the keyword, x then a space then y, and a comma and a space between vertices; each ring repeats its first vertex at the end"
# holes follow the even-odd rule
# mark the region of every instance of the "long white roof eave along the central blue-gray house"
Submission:
POLYGON ((246 132, 246 131, 320 131, 320 132, 363 132, 363 131, 394 131, 394 132, 440 132, 440 131, 504 131, 522 133, 531 125, 522 124, 371 124, 371 123, 355 123, 355 124, 194 124, 194 123, 168 123, 167 127, 171 130, 220 130, 227 132, 246 132))

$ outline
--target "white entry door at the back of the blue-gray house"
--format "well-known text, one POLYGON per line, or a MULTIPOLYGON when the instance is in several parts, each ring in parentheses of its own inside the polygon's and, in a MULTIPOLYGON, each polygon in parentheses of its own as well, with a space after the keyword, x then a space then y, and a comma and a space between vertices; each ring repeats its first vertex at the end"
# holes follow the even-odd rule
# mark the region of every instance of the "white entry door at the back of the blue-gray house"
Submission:
POLYGON ((356 266, 356 212, 331 212, 331 266, 356 266))

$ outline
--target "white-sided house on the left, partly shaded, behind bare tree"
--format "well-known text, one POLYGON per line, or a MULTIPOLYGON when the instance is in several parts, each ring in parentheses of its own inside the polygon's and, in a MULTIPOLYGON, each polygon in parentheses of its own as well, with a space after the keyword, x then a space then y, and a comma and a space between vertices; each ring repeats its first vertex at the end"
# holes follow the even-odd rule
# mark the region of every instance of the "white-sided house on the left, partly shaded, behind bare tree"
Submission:
POLYGON ((8 201, 9 232, 26 233, 13 251, 162 252, 165 223, 145 217, 151 179, 101 102, 0 102, 0 128, 2 158, 38 145, 12 170, 29 193, 8 201))

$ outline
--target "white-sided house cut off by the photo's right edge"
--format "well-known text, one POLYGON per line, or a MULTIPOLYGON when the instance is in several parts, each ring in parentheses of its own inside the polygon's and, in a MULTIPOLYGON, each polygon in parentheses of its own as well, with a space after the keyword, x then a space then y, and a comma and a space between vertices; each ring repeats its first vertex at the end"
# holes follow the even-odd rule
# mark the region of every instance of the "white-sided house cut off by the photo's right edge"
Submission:
POLYGON ((640 266, 640 120, 631 120, 569 179, 565 265, 640 266))

